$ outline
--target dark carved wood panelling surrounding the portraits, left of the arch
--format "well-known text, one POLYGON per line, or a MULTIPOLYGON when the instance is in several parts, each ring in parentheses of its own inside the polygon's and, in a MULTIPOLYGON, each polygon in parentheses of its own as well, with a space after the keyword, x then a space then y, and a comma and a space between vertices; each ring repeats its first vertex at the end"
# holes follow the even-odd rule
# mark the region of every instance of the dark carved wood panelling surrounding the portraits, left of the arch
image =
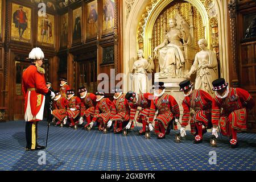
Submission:
MULTIPOLYGON (((52 32, 54 36, 53 46, 42 46, 39 44, 37 37, 40 28, 38 28, 38 4, 27 0, 2 0, 1 13, 1 31, 0 31, 0 106, 8 107, 6 111, 6 118, 22 119, 19 116, 23 115, 23 109, 20 107, 16 108, 14 105, 17 100, 22 104, 23 96, 16 96, 15 94, 15 59, 22 59, 28 56, 28 53, 34 47, 40 47, 43 49, 45 57, 48 59, 44 65, 46 68, 46 80, 52 82, 52 87, 55 90, 60 88, 60 77, 67 77, 68 83, 72 89, 77 90, 79 87, 79 64, 82 61, 95 61, 97 64, 97 75, 100 73, 106 73, 110 78, 110 69, 115 69, 115 74, 121 72, 121 23, 119 16, 122 13, 122 2, 114 0, 114 27, 113 31, 108 34, 103 34, 103 3, 105 1, 96 0, 98 7, 98 24, 97 24, 97 36, 93 39, 86 39, 86 20, 87 12, 86 5, 93 2, 93 0, 77 0, 76 2, 69 5, 62 6, 61 9, 58 7, 58 2, 55 0, 49 0, 55 3, 55 10, 51 7, 48 9, 47 14, 54 16, 54 28, 52 32), (31 9, 31 41, 28 43, 11 40, 11 26, 13 12, 11 12, 12 3, 20 6, 28 7, 31 9), (72 30, 73 30, 73 10, 81 7, 81 41, 76 43, 72 42, 72 30), (68 13, 68 35, 67 35, 67 46, 61 47, 61 15, 68 13), (102 64, 104 59, 104 48, 113 47, 113 62, 102 64), (63 63, 64 67, 63 68, 63 63), (16 115, 16 118, 14 117, 16 115)), ((1 2, 1 1, 0 1, 1 2)), ((100 81, 98 81, 100 82, 100 81)), ((97 85, 97 81, 96 81, 97 85)), ((96 92, 97 86, 94 87, 96 92)), ((112 97, 109 95, 108 97, 112 97)))

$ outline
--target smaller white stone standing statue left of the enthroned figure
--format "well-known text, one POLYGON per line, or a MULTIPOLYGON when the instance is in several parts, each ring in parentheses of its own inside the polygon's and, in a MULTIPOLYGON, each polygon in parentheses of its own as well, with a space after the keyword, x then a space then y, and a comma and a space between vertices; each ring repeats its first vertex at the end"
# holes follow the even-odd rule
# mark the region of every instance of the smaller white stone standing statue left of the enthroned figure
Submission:
POLYGON ((138 60, 134 62, 131 73, 133 74, 133 90, 136 93, 147 93, 149 91, 147 73, 154 69, 154 61, 151 56, 148 60, 144 59, 142 49, 138 50, 138 60))

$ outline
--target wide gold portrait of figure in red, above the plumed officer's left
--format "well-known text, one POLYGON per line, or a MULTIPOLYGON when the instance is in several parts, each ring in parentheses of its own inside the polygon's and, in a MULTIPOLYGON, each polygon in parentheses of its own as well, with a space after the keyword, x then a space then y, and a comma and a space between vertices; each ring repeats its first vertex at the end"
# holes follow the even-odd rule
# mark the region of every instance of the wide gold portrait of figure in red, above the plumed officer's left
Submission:
POLYGON ((11 4, 11 40, 31 42, 31 9, 11 4))

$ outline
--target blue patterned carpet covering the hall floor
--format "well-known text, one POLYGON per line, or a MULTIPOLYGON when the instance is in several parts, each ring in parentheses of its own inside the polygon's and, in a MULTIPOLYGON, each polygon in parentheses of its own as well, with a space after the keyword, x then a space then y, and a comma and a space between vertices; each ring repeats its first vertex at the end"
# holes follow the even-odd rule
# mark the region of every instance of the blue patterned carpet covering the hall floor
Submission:
MULTIPOLYGON (((46 164, 39 165, 38 151, 25 151, 25 122, 0 123, 0 170, 255 170, 256 134, 238 134, 240 147, 229 148, 228 137, 218 138, 218 147, 209 144, 210 133, 201 144, 193 144, 192 135, 181 143, 175 133, 158 140, 138 136, 137 129, 126 137, 122 134, 102 134, 68 127, 50 126, 46 164), (216 151, 216 164, 210 165, 210 151, 216 151)), ((38 126, 38 143, 46 142, 47 123, 38 126)))

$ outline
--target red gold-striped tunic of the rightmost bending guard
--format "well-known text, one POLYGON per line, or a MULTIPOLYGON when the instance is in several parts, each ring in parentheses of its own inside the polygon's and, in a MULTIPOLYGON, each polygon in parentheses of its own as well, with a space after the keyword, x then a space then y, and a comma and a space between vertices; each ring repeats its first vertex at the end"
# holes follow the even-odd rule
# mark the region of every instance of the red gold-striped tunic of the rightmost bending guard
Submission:
POLYGON ((230 136, 229 122, 237 130, 247 129, 247 112, 254 106, 253 97, 241 88, 229 88, 226 98, 214 97, 212 103, 212 124, 218 126, 220 120, 221 133, 230 136), (222 112, 220 112, 223 108, 222 112))

